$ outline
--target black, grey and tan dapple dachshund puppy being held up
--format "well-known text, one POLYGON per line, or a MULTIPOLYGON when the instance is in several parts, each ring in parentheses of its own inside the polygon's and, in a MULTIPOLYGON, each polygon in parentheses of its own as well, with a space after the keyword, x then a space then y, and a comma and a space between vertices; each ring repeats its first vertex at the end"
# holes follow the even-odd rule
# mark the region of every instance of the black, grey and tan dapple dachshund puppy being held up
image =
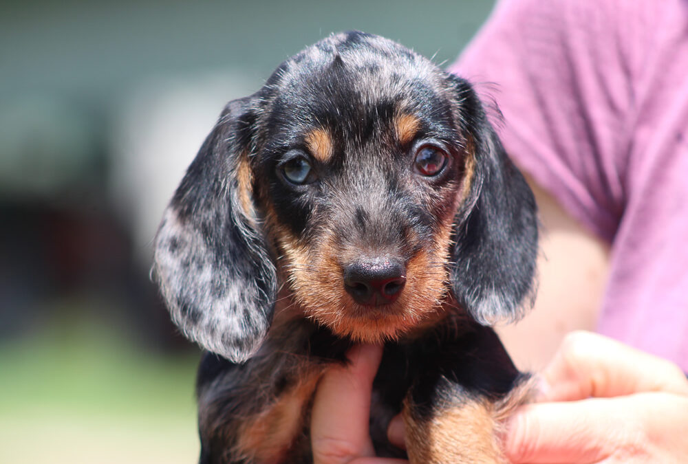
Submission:
POLYGON ((385 344, 380 456, 494 463, 526 396, 489 327, 534 294, 537 220, 475 91, 378 36, 325 38, 230 102, 164 213, 155 276, 204 355, 201 463, 309 463, 318 381, 385 344), (408 454, 387 442, 402 412, 408 454))

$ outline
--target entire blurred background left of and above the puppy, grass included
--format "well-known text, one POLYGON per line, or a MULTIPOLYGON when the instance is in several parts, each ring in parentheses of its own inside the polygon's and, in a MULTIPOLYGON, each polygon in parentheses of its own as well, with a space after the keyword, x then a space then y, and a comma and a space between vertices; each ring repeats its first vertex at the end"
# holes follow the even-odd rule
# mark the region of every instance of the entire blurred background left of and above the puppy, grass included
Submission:
POLYGON ((149 280, 224 102, 331 32, 453 60, 456 1, 0 3, 0 463, 191 463, 199 351, 149 280))

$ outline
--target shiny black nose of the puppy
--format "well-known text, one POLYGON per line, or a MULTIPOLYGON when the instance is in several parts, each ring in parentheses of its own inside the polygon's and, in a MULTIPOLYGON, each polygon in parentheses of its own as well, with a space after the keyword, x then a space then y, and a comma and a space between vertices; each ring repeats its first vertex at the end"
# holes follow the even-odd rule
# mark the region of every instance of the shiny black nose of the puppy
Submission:
POLYGON ((406 267, 397 259, 361 259, 344 269, 344 288, 365 306, 389 305, 406 283, 406 267))

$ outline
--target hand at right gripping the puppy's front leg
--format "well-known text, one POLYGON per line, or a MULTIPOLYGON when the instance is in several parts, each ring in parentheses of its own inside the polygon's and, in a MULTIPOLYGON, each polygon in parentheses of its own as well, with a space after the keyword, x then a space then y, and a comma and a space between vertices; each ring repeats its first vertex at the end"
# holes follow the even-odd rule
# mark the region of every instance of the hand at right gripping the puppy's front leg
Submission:
POLYGON ((688 380, 678 366, 601 335, 575 332, 542 374, 537 404, 508 423, 514 463, 688 460, 688 380))

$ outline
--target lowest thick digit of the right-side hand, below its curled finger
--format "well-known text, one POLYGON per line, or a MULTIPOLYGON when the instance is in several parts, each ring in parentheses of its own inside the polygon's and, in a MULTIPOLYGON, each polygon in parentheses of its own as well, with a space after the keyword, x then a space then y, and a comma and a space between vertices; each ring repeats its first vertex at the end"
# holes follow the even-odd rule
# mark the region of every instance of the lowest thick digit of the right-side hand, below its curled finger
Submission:
POLYGON ((512 463, 680 462, 688 452, 688 397, 639 393, 531 404, 507 423, 512 463))

